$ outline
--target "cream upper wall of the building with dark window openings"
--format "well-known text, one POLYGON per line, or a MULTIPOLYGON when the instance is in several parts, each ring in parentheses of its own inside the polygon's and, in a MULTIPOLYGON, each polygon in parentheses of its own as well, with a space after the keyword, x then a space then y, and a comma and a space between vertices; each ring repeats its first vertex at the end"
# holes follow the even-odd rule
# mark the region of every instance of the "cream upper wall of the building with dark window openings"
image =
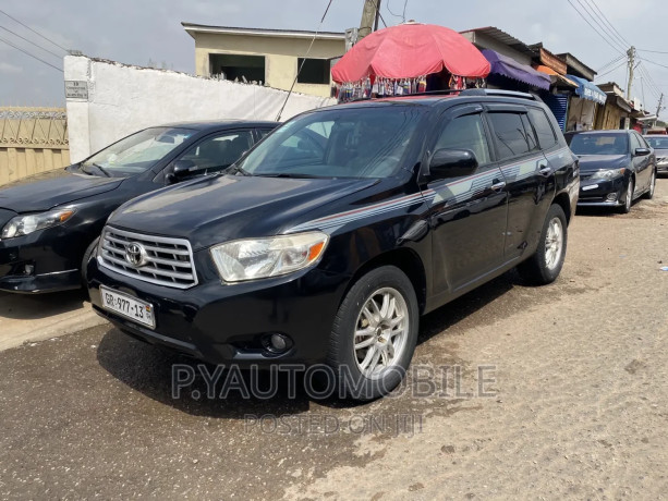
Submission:
MULTIPOLYGON (((297 58, 308 51, 311 39, 196 33, 195 73, 209 76, 209 54, 233 53, 265 57, 265 82, 274 88, 290 89, 297 70, 297 58)), ((345 52, 345 40, 316 39, 308 58, 330 59, 345 52)), ((296 84, 294 90, 314 96, 329 97, 330 85, 296 84)))

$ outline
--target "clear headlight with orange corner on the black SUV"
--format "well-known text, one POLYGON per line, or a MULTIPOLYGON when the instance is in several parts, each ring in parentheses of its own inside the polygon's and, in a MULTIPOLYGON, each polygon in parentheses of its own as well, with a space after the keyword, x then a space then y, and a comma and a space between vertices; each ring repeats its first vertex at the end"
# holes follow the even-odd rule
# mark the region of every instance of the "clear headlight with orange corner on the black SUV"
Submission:
POLYGON ((314 265, 329 236, 320 232, 250 239, 211 247, 211 257, 226 282, 278 277, 314 265))

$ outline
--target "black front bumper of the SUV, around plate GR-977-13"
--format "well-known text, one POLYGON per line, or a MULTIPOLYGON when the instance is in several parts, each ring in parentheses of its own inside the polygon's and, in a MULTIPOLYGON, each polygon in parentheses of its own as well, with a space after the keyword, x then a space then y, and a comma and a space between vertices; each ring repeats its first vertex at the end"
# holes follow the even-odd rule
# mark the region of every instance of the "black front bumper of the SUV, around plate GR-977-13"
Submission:
POLYGON ((317 268, 295 276, 239 284, 203 280, 178 290, 121 276, 92 259, 87 269, 95 311, 121 331, 212 364, 241 367, 323 362, 348 277, 317 268), (154 330, 102 307, 100 285, 150 303, 154 330), (271 353, 263 340, 287 335, 287 351, 271 353))

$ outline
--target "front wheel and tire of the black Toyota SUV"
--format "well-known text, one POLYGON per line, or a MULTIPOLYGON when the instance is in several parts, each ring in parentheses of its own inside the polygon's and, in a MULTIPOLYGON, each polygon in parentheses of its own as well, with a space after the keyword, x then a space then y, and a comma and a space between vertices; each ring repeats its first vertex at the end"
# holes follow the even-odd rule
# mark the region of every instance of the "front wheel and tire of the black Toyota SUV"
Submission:
POLYGON ((401 383, 415 351, 418 315, 413 284, 399 268, 376 268, 353 284, 339 306, 327 354, 339 398, 366 402, 401 383))

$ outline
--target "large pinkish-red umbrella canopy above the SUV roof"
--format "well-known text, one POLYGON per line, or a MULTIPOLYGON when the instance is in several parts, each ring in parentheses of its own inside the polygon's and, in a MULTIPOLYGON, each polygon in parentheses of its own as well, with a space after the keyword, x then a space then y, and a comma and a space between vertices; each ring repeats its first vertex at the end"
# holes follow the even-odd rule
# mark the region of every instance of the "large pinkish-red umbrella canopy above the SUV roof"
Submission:
POLYGON ((442 69, 453 75, 484 78, 489 62, 459 33, 434 24, 405 23, 364 37, 331 69, 335 82, 367 76, 417 78, 442 69))

